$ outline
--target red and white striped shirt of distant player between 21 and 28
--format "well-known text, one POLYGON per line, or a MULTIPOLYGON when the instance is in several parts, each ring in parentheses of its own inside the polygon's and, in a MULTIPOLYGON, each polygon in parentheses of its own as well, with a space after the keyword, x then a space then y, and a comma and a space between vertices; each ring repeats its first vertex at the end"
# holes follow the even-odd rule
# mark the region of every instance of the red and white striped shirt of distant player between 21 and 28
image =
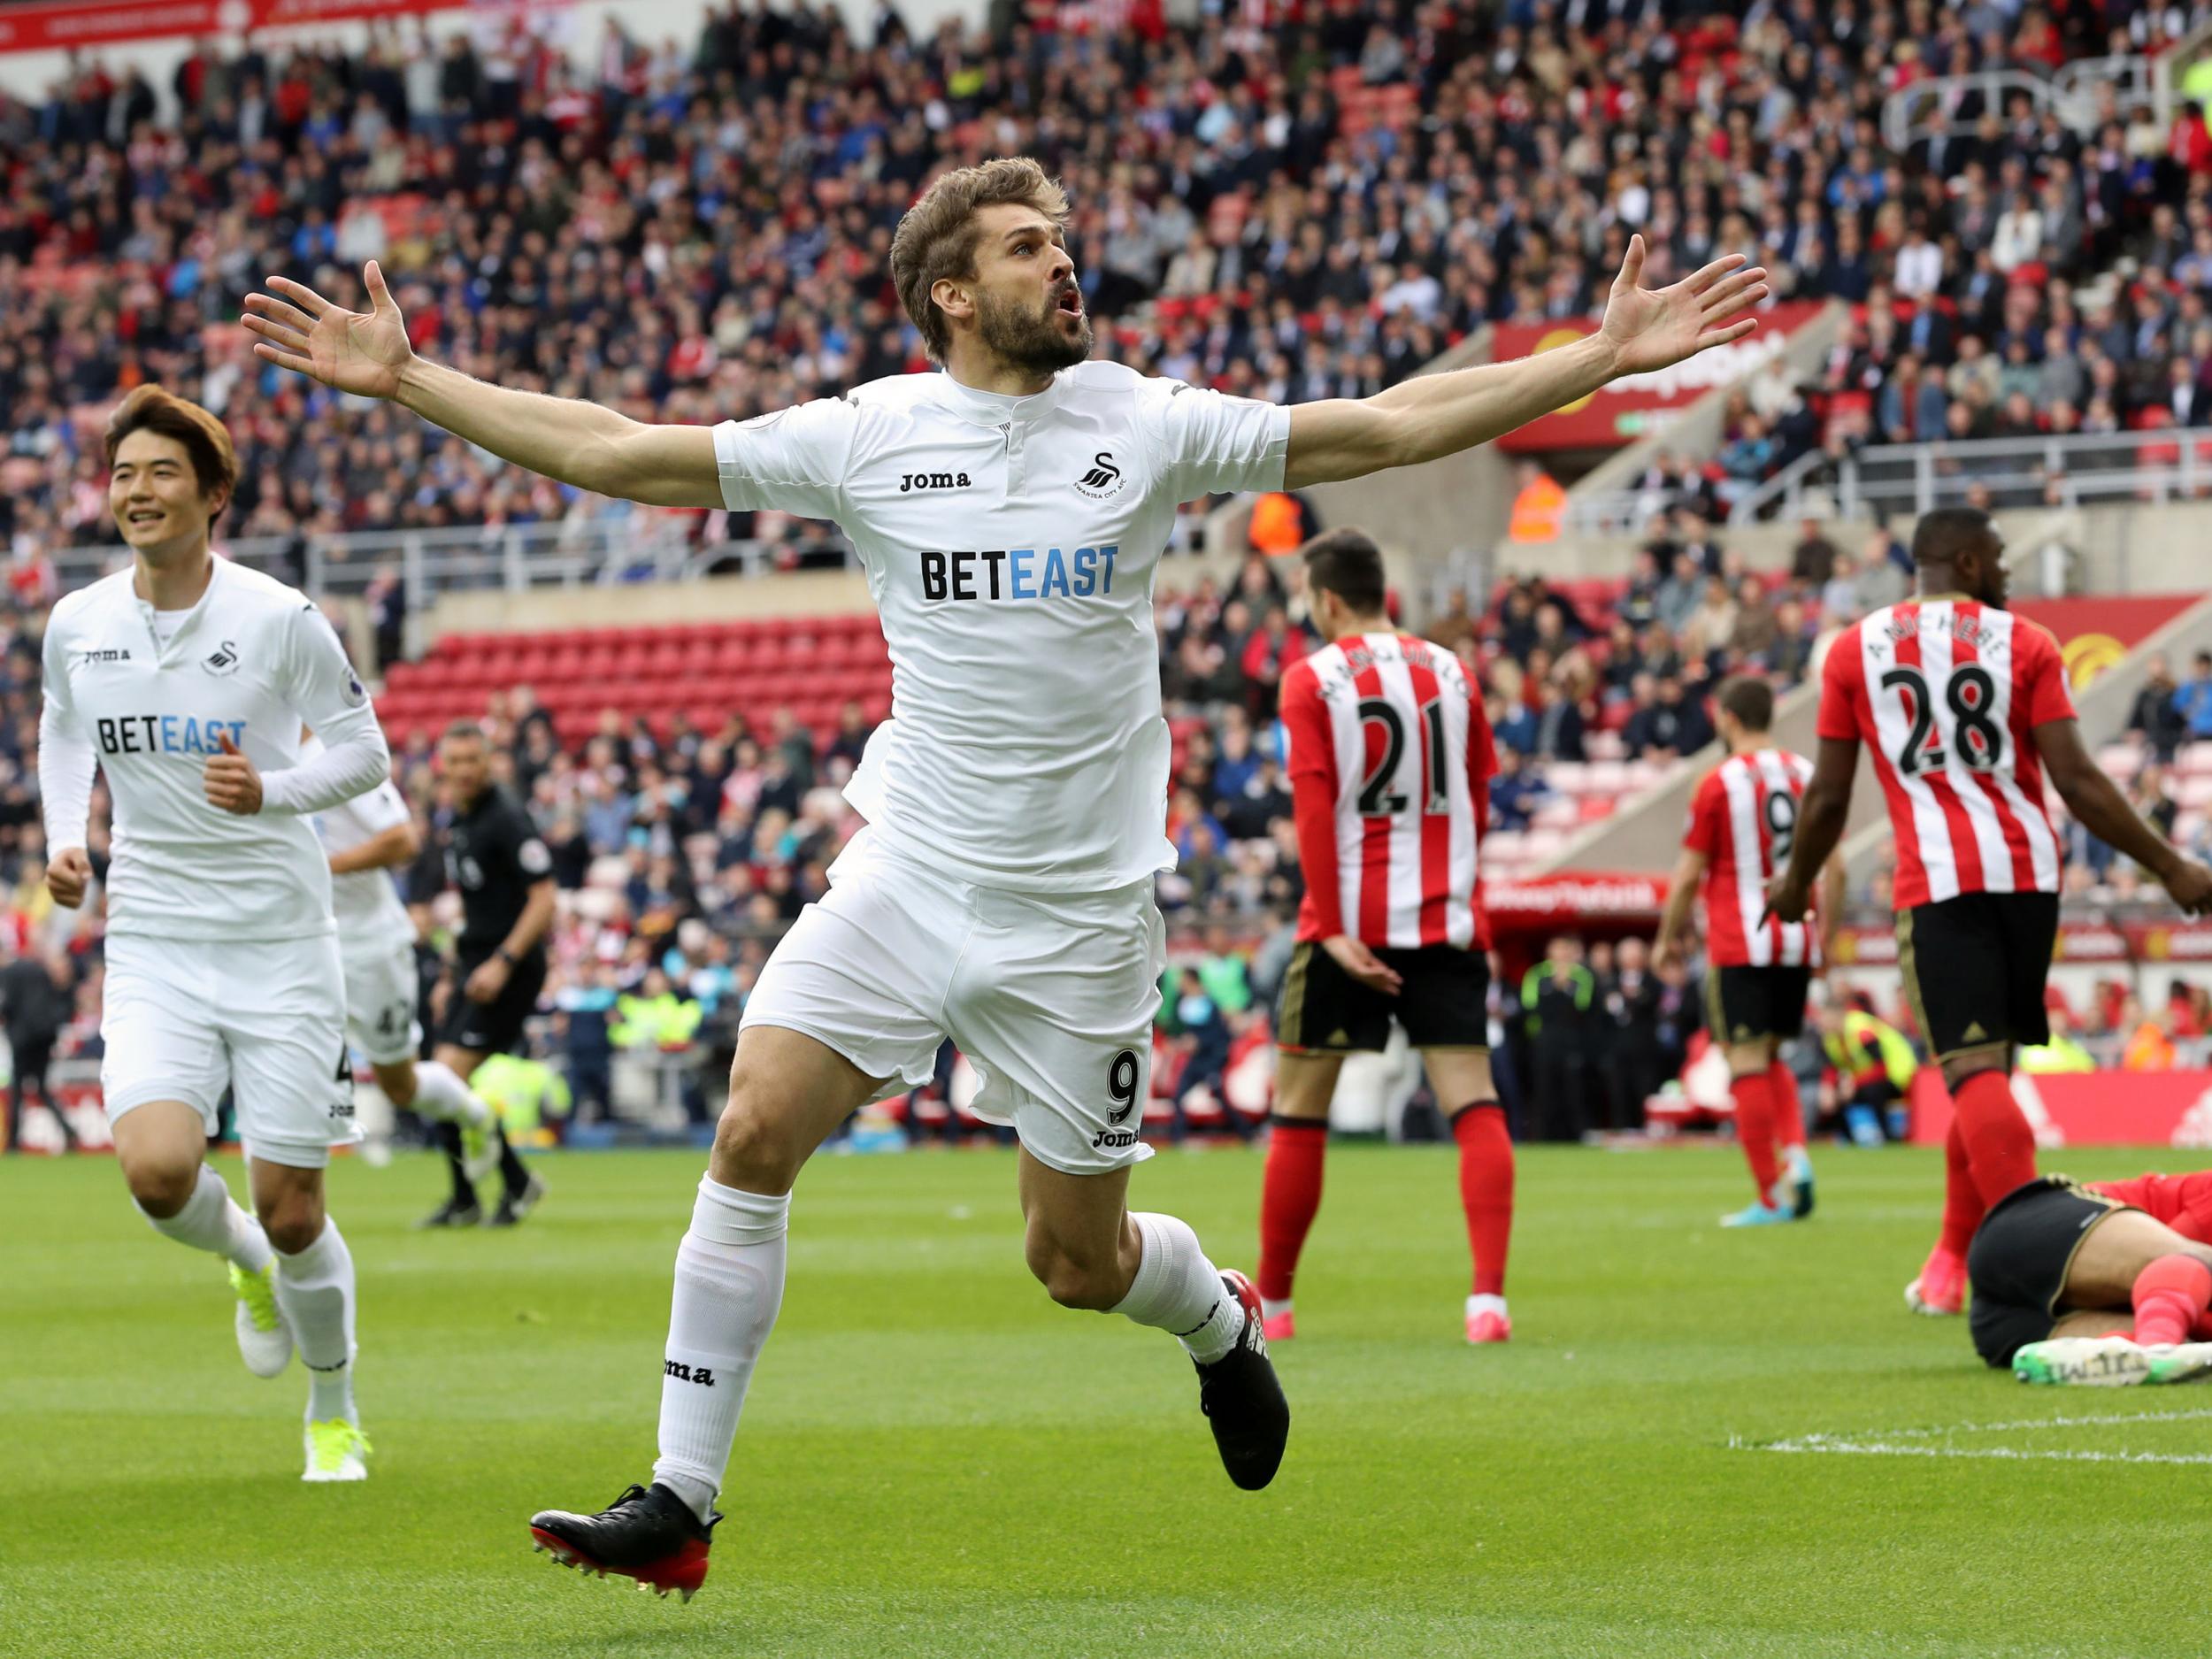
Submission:
POLYGON ((1790 863, 1812 761, 1790 750, 1730 754, 1690 796, 1681 845, 1705 854, 1705 960, 1712 967, 1820 967, 1812 922, 1765 916, 1767 883, 1790 863))

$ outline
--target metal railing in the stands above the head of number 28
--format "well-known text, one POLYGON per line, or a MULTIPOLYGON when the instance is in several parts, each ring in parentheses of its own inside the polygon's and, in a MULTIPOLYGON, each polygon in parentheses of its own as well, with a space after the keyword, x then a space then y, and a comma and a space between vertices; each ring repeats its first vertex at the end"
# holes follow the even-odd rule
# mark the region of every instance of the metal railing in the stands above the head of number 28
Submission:
POLYGON ((1838 518, 1962 507, 1975 489, 1986 489, 2000 509, 2095 500, 2163 504, 2212 493, 2212 431, 1878 445, 1840 460, 1814 451, 1739 495, 1728 522, 1798 518, 1814 489, 1832 498, 1838 518))

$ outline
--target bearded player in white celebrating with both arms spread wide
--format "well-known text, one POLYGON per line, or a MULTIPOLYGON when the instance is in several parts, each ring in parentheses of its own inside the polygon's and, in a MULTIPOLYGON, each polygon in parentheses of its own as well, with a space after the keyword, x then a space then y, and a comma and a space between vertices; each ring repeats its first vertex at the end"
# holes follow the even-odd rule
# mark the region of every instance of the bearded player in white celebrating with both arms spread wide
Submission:
POLYGON ((869 827, 745 1009, 677 1252, 655 1484, 602 1515, 538 1515, 560 1559, 664 1593, 706 1577, 745 1383, 783 1296, 799 1168, 854 1108, 929 1077, 945 1035, 989 1079, 980 1110, 1022 1139, 1031 1272, 1068 1307, 1175 1332, 1230 1478, 1274 1478, 1290 1411, 1256 1292, 1217 1272, 1188 1225, 1124 1203, 1146 1157, 1152 876, 1175 858, 1150 604, 1175 509, 1449 456, 1741 338, 1739 314, 1767 292, 1736 259, 1644 292, 1637 239, 1599 334, 1292 411, 1086 361, 1066 215, 1029 159, 942 175, 898 226, 891 279, 945 374, 712 429, 425 363, 374 263, 365 314, 283 279, 248 299, 263 361, 394 398, 580 489, 836 520, 891 648, 894 719, 847 787, 869 827))

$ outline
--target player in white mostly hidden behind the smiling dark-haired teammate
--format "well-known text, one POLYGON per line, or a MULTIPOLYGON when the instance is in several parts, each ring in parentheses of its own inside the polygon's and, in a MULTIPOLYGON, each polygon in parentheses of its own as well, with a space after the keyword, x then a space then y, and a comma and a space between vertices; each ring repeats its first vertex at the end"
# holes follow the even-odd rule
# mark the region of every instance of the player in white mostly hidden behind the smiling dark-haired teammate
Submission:
MULTIPOLYGON (((319 743, 310 739, 310 748, 319 743)), ((451 1066, 418 1060, 422 1024, 416 1020, 416 931, 392 885, 392 872, 405 869, 422 852, 414 814, 392 779, 385 779, 367 794, 323 812, 316 830, 330 856, 330 902, 338 918, 338 960, 345 964, 345 1033, 369 1062, 385 1099, 460 1128, 467 1175, 482 1181, 500 1166, 491 1106, 451 1066)))

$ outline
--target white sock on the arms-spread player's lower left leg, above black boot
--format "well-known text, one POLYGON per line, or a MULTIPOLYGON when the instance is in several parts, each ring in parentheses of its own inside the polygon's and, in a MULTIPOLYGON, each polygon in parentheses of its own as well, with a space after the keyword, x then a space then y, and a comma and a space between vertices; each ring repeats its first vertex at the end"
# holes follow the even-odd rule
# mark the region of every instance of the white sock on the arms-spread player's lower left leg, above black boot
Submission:
POLYGON ((699 1520, 714 1511, 752 1365, 783 1307, 790 1212, 790 1192, 739 1192, 706 1175, 690 1232, 677 1245, 661 1365, 661 1455, 653 1478, 699 1520))

